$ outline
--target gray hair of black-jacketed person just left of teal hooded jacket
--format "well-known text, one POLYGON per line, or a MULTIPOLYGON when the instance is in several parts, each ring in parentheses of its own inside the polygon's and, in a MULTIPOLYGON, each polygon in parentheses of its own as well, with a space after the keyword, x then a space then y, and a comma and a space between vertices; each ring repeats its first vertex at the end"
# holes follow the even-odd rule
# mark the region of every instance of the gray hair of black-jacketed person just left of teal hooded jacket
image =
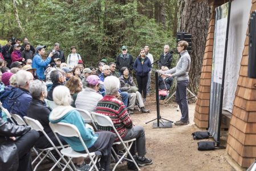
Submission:
POLYGON ((29 84, 29 92, 34 99, 40 99, 42 92, 47 92, 46 83, 34 80, 29 84))

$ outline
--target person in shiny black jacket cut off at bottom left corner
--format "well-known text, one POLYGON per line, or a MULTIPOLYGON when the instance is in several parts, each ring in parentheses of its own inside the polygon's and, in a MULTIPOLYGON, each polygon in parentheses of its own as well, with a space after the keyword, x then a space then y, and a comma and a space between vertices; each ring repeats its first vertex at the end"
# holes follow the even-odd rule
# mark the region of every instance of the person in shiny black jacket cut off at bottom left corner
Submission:
POLYGON ((1 170, 32 170, 30 150, 39 133, 29 126, 14 125, 0 118, 1 170), (5 160, 2 160, 2 159, 5 160))

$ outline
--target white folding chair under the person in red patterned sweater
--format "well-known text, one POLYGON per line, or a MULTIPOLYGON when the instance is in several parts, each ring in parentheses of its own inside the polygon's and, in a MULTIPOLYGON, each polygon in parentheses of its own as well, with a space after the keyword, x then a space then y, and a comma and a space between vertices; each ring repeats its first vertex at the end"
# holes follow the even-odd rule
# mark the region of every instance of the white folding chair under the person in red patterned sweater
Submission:
MULTIPOLYGON (((121 136, 119 135, 119 133, 117 132, 116 128, 115 128, 115 125, 113 124, 112 120, 110 119, 110 117, 108 116, 105 116, 105 115, 101 115, 99 113, 95 113, 95 112, 92 112, 91 113, 92 115, 92 119, 94 119, 94 122, 96 125, 99 125, 101 127, 112 127, 112 129, 115 131, 116 133, 116 136, 119 138, 120 141, 118 142, 115 142, 113 145, 115 144, 122 144, 125 148, 125 153, 119 158, 119 161, 117 161, 115 167, 113 168, 113 170, 116 169, 117 165, 119 165, 119 163, 123 160, 123 158, 125 160, 128 160, 128 161, 131 161, 133 162, 135 165, 136 165, 136 168, 138 170, 140 170, 139 166, 137 165, 136 161, 134 160, 134 158, 132 157, 132 154, 129 152, 129 150, 131 149, 132 147, 132 144, 134 141, 136 141, 136 139, 131 139, 131 140, 127 140, 127 141, 123 141, 123 139, 121 138, 121 136), (130 143, 130 145, 126 145, 130 143), (125 158, 126 155, 129 155, 131 157, 131 159, 129 158, 125 158)), ((113 151, 114 152, 114 151, 113 151)), ((114 152, 115 153, 115 152, 114 152)), ((117 154, 115 153, 115 155, 117 156, 117 154)))

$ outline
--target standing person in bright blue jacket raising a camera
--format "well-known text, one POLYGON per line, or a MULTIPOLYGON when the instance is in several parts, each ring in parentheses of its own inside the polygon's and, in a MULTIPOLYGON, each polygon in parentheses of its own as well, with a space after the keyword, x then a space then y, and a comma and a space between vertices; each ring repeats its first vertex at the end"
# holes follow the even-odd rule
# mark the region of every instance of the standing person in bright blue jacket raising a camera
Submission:
POLYGON ((53 53, 50 52, 48 57, 43 60, 42 56, 45 53, 45 48, 46 46, 37 46, 35 48, 36 54, 32 60, 32 68, 36 68, 36 75, 38 76, 38 79, 43 81, 46 79, 46 77, 44 76, 45 68, 48 66, 48 64, 50 64, 53 57, 53 53))

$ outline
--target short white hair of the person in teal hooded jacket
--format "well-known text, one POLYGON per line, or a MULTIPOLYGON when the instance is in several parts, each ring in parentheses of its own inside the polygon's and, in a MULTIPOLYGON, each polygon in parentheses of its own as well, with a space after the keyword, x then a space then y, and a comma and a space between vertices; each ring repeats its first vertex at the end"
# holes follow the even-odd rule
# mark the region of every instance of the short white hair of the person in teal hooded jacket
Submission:
POLYGON ((70 89, 66 86, 58 86, 54 88, 52 99, 54 99, 56 105, 70 105, 72 103, 70 89))

